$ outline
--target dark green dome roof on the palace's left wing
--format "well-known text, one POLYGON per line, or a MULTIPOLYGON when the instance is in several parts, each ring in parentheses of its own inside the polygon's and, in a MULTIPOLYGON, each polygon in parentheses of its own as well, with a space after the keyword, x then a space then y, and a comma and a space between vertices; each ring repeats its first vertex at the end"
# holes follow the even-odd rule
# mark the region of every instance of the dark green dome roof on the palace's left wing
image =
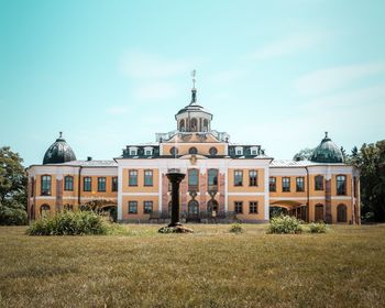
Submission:
POLYGON ((61 132, 59 138, 56 139, 55 143, 52 144, 45 152, 43 165, 76 161, 73 148, 70 148, 70 146, 66 143, 62 134, 63 133, 61 132))

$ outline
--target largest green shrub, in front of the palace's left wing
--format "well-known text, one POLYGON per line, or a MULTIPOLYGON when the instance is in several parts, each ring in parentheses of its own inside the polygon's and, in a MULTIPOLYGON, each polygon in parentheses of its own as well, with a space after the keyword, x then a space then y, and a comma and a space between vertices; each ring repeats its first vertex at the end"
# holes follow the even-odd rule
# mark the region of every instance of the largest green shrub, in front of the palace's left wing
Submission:
POLYGON ((108 222, 91 211, 65 211, 35 221, 28 230, 30 235, 107 234, 108 222))

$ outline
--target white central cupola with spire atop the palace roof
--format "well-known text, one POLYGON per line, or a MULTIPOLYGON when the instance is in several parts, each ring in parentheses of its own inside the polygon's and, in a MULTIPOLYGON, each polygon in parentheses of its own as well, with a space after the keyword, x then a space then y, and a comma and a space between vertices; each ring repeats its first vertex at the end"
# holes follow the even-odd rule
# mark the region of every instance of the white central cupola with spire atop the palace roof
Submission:
POLYGON ((180 132, 209 132, 211 130, 212 114, 197 102, 196 72, 193 72, 191 101, 175 114, 178 131, 180 132))

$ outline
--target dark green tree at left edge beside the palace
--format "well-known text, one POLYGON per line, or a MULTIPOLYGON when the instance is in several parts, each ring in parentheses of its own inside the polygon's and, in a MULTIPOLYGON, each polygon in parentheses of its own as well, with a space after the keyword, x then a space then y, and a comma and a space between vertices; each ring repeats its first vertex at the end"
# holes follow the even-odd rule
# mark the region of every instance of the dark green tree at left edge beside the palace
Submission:
POLYGON ((26 173, 23 160, 9 146, 0 147, 0 224, 26 222, 26 173))

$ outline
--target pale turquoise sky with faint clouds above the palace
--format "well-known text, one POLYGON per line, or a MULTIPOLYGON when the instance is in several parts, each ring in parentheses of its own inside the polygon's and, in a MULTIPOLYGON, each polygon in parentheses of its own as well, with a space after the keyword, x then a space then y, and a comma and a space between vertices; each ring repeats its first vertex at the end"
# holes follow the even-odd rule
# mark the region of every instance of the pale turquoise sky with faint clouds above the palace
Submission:
POLYGON ((0 0, 0 146, 112 158, 198 101, 276 158, 385 138, 385 1, 0 0))

